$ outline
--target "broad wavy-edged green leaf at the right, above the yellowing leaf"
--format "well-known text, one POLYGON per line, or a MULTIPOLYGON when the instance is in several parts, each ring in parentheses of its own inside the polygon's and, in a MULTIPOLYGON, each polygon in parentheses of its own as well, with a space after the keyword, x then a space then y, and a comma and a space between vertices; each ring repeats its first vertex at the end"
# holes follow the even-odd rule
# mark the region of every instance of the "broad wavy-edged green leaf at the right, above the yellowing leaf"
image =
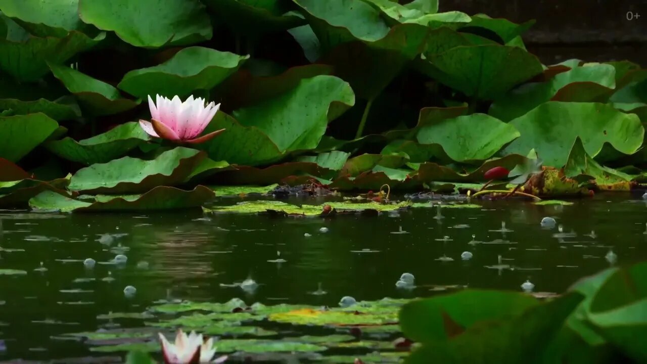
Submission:
POLYGON ((521 131, 521 136, 503 150, 505 154, 526 155, 534 149, 544 165, 558 168, 565 165, 578 136, 591 157, 606 142, 619 152, 633 154, 644 137, 636 115, 588 102, 546 102, 510 124, 521 131))

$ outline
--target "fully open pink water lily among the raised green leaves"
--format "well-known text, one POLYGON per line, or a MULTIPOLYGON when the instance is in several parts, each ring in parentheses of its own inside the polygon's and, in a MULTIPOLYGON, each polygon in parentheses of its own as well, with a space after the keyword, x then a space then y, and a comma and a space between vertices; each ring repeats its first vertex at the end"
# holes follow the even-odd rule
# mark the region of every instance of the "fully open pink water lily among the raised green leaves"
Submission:
POLYGON ((148 107, 151 109, 151 121, 139 120, 139 124, 148 135, 156 138, 195 144, 210 141, 225 131, 216 130, 198 137, 220 108, 220 104, 214 105, 214 102, 204 106, 204 98, 201 97, 190 96, 182 102, 177 96, 169 100, 157 95, 157 102, 153 102, 149 95, 148 107))

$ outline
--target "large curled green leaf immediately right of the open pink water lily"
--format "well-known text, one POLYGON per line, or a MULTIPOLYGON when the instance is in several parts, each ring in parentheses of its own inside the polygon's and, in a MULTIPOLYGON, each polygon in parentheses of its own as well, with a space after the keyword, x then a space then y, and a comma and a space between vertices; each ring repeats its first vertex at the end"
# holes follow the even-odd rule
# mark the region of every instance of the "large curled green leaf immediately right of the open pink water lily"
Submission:
POLYGON ((217 113, 207 131, 226 131, 198 147, 216 161, 251 166, 271 163, 287 152, 316 148, 328 122, 353 104, 355 96, 346 82, 315 76, 279 97, 235 111, 236 119, 217 113))

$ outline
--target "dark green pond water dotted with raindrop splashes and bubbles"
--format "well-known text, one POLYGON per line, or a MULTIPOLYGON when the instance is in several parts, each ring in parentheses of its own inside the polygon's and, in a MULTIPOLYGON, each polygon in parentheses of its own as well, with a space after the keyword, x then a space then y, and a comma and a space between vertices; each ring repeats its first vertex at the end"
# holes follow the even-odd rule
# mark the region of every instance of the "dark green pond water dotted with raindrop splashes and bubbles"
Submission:
POLYGON ((142 326, 105 314, 141 313, 164 299, 333 307, 346 295, 358 301, 426 297, 455 285, 521 291, 525 280, 535 291, 559 293, 608 267, 611 248, 617 264, 647 258, 641 199, 479 204, 444 208, 442 219, 435 208, 331 219, 1 211, 0 269, 27 274, 0 275, 0 361, 119 362, 123 352, 94 352, 91 343, 65 334, 142 326), (540 226, 544 216, 563 226, 562 238, 558 227, 540 226), (501 222, 510 231, 498 231, 501 222), (408 233, 395 233, 400 228, 408 233), (472 234, 490 244, 468 244, 472 234), (287 262, 269 262, 277 251, 287 262), (464 251, 470 260, 461 259, 464 251), (127 262, 110 262, 117 254, 127 262), (498 265, 499 255, 513 269, 486 267, 498 265), (93 269, 84 266, 86 258, 96 260, 93 269), (396 287, 404 272, 415 275, 416 288, 396 287), (247 278, 258 282, 255 291, 232 286, 247 278), (326 293, 312 294, 319 283, 326 293), (137 289, 133 297, 124 295, 126 286, 137 289))

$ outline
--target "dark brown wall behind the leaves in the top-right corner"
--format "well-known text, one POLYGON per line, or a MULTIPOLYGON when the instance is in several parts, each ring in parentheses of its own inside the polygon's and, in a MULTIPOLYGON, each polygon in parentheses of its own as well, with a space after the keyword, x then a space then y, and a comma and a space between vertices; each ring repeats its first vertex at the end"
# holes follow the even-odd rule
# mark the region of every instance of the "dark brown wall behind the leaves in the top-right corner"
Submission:
POLYGON ((439 11, 483 13, 515 23, 536 19, 523 34, 543 63, 569 58, 630 60, 647 67, 647 0, 440 0, 439 11), (630 12, 630 14, 627 14, 630 12), (633 16, 632 20, 628 17, 633 16))

